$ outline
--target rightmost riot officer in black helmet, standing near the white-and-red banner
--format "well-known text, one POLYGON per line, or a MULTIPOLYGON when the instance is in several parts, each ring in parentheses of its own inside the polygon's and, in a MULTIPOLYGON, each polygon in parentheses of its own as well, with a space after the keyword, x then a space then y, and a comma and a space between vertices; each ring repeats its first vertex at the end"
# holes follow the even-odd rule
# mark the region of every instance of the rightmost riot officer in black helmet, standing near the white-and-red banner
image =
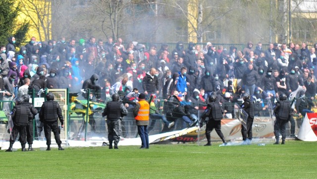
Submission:
POLYGON ((290 101, 286 100, 287 96, 286 94, 282 93, 279 95, 279 101, 276 102, 274 106, 274 112, 276 121, 274 124, 274 135, 276 138, 276 142, 274 144, 279 144, 279 130, 282 134, 282 143, 285 144, 285 128, 286 124, 291 118, 292 108, 290 101))

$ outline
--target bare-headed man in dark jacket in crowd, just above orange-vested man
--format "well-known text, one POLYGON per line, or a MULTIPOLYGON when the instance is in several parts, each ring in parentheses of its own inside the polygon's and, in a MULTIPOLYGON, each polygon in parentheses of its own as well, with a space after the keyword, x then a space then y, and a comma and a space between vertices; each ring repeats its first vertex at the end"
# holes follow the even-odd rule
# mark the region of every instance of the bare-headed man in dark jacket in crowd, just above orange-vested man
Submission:
POLYGON ((155 75, 156 69, 151 68, 147 75, 143 78, 142 86, 146 95, 151 93, 159 94, 159 79, 155 75))

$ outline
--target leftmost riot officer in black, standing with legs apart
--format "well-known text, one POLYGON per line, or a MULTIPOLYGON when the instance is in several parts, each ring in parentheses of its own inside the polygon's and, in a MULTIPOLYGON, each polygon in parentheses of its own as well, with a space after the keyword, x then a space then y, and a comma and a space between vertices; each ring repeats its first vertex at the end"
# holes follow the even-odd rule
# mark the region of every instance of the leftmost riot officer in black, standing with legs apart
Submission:
POLYGON ((20 143, 22 147, 22 151, 25 150, 25 143, 26 143, 26 136, 25 136, 25 128, 28 123, 28 116, 30 113, 35 115, 37 111, 32 109, 29 105, 23 103, 23 97, 16 98, 16 105, 13 107, 11 111, 11 117, 13 121, 13 129, 12 129, 12 136, 10 137, 10 146, 6 152, 12 152, 12 146, 15 142, 16 137, 20 134, 20 143))

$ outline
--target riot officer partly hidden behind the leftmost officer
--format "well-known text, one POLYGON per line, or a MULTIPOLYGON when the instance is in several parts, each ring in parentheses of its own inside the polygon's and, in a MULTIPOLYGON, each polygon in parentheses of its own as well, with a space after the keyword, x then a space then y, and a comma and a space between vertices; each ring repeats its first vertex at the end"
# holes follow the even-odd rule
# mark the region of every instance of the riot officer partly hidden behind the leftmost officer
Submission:
MULTIPOLYGON (((30 109, 32 109, 31 111, 35 111, 36 114, 37 114, 38 110, 35 109, 33 107, 32 103, 29 102, 30 95, 29 94, 23 94, 22 97, 24 99, 23 104, 28 105, 30 107, 30 109)), ((33 144, 33 119, 34 119, 34 114, 32 112, 29 113, 29 117, 28 118, 29 118, 29 120, 28 120, 28 123, 26 125, 26 141, 29 144, 28 151, 33 151, 32 144, 33 144)))

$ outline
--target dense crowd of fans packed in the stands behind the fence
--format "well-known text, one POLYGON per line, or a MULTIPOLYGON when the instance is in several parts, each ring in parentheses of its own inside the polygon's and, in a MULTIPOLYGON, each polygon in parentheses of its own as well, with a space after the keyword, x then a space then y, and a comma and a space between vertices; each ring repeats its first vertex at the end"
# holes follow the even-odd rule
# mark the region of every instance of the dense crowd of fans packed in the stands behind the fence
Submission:
MULTIPOLYGON (((87 87, 84 82, 90 79, 101 87, 101 96, 106 98, 120 91, 137 91, 176 101, 171 103, 172 108, 166 105, 166 117, 172 116, 169 110, 177 109, 177 117, 192 125, 197 116, 191 114, 204 109, 211 94, 223 104, 237 102, 243 92, 249 93, 259 113, 267 108, 264 99, 274 99, 281 93, 291 99, 306 94, 308 107, 298 104, 299 114, 302 109, 310 110, 310 100, 316 94, 317 44, 308 49, 305 43, 274 43, 263 49, 262 43, 254 46, 248 42, 244 49, 225 49, 210 42, 178 42, 174 49, 169 49, 167 44, 123 45, 120 38, 115 43, 112 38, 104 43, 95 37, 78 42, 66 42, 63 37, 59 41, 37 42, 32 37, 25 46, 18 46, 19 51, 16 48, 15 38, 9 37, 8 44, 0 49, 3 100, 12 100, 30 89, 79 91, 87 87)), ((224 108, 227 117, 232 117, 232 105, 224 108)))

